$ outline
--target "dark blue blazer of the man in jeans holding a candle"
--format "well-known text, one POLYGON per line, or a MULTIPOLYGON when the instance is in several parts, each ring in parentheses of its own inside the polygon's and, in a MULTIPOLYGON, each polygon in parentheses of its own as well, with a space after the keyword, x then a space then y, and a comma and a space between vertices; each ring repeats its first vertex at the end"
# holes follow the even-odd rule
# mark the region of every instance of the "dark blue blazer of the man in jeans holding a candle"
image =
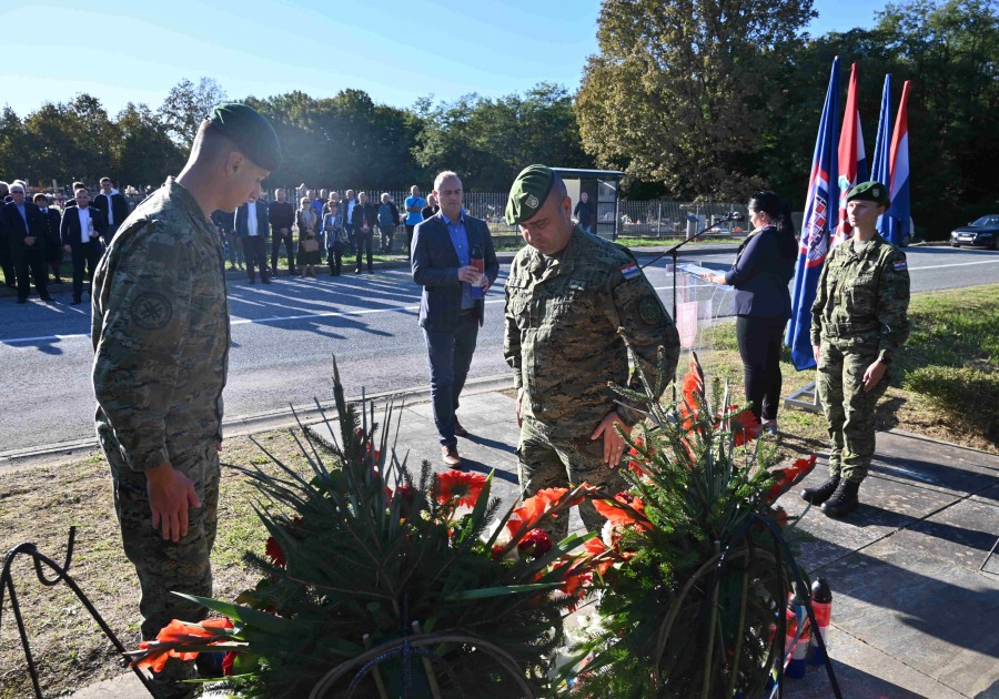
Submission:
MULTIPOLYGON (((485 221, 465 214, 465 232, 468 235, 468 250, 478 245, 485 260, 485 273, 492 286, 500 274, 500 262, 493 247, 493 236, 485 221)), ((420 325, 426 330, 454 330, 457 327, 462 311, 462 283, 457 272, 462 264, 451 233, 441 213, 437 212, 413 232, 413 281, 423 287, 420 297, 420 325)), ((478 324, 485 317, 485 301, 475 302, 478 324)))

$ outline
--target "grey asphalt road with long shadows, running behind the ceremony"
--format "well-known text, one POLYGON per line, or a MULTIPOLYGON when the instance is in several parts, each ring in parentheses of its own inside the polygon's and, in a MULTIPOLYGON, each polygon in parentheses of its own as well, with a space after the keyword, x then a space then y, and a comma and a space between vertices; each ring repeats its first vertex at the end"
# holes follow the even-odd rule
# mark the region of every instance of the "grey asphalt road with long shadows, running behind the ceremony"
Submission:
MULTIPOLYGON (((999 253, 949 247, 907 250, 914 292, 999 283, 999 253)), ((690 251, 689 261, 726 269, 734 259, 690 251)), ((642 262, 647 261, 645 257, 642 262)), ((670 274, 660 260, 646 269, 666 307, 670 274)), ((471 377, 508 372, 502 347, 502 284, 487 297, 486 324, 471 377)), ((230 277, 232 352, 225 388, 226 418, 309 404, 332 396, 335 354, 347 395, 383 393, 427 383, 423 335, 416 325, 420 291, 407 270, 375 274, 279 277, 250 286, 230 277)), ((717 294, 715 294, 717 300, 717 294)), ((93 436, 90 310, 37 300, 16 305, 0 298, 0 455, 93 436)))

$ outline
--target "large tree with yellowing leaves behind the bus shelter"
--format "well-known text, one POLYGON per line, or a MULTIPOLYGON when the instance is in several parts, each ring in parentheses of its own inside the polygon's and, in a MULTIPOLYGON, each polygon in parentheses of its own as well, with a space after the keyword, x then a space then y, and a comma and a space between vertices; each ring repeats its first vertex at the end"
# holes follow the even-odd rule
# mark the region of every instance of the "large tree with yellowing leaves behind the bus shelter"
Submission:
POLYGON ((779 110, 773 81, 811 0, 604 0, 576 99, 584 148, 676 196, 744 197, 779 110))

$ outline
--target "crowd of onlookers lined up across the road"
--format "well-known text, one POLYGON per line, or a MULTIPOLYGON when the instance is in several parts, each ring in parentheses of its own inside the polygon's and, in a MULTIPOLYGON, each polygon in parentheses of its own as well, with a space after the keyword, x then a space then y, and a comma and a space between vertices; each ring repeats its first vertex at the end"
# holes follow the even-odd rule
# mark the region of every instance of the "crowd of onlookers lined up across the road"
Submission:
MULTIPOLYGON (((73 196, 60 201, 61 207, 54 196, 43 192, 29 196, 28 190, 21 180, 0 181, 0 270, 6 285, 17 290, 17 303, 28 302, 32 284, 42 301, 53 302, 49 285, 63 283, 62 266, 69 261, 71 303, 81 304, 88 293, 84 283, 92 283, 98 261, 135 204, 110 178, 101 179, 93 196, 84 183, 73 182, 73 196)), ((145 197, 155 191, 147 188, 145 197)), ((341 197, 335 190, 316 193, 301 185, 293 192, 293 204, 283 189, 274 192, 273 201, 261 191, 234 213, 214 211, 211 222, 229 269, 245 270, 251 284, 258 273, 262 283, 270 284, 282 252, 291 276, 315 277, 324 262, 329 274, 339 276, 344 256, 356 257, 355 273, 365 269, 371 273, 375 252, 408 252, 416 224, 440 210, 434 195, 424 199, 418 185, 410 192, 400 212, 387 192, 375 202, 366 192, 346 190, 341 197), (396 241, 401 226, 406 231, 404 247, 396 241)))

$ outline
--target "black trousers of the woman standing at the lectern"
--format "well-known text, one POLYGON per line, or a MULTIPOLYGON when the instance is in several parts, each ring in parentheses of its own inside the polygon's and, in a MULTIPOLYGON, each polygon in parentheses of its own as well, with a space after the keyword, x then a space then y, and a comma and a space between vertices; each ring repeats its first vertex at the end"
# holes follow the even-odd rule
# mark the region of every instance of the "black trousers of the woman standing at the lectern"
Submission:
POLYGON ((780 406, 780 343, 784 318, 740 315, 736 318, 736 338, 743 357, 746 401, 753 404, 756 419, 777 419, 780 406))

